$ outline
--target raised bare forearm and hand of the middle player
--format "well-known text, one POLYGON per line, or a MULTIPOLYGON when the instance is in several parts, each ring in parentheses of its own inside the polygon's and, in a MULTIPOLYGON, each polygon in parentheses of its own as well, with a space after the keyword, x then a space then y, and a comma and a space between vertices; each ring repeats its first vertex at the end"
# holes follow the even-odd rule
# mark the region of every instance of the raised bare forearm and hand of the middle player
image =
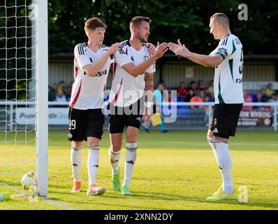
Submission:
POLYGON ((128 73, 130 73, 131 76, 137 77, 141 73, 145 72, 149 68, 149 66, 152 66, 152 64, 157 59, 162 57, 167 50, 168 50, 167 43, 163 42, 163 43, 159 44, 159 42, 157 42, 156 52, 154 52, 154 55, 152 55, 152 57, 147 59, 145 62, 142 62, 142 63, 137 64, 137 65, 135 65, 133 62, 128 63, 128 64, 124 64, 124 66, 122 66, 122 68, 124 70, 126 70, 128 73))

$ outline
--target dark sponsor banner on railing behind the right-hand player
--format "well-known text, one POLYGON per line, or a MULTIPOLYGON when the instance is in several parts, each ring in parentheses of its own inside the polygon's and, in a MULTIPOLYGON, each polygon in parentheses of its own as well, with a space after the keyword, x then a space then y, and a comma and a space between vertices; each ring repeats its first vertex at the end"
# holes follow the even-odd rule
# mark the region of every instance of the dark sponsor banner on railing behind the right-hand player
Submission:
POLYGON ((271 126, 272 111, 241 111, 238 126, 271 126))

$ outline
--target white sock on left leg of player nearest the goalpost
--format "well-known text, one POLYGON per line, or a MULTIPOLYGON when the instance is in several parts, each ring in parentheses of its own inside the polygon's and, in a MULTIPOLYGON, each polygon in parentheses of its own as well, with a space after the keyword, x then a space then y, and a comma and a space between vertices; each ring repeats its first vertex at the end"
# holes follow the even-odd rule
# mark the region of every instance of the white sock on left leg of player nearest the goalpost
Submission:
POLYGON ((74 148, 71 146, 71 166, 73 168, 73 181, 81 181, 81 155, 82 146, 80 148, 74 148))

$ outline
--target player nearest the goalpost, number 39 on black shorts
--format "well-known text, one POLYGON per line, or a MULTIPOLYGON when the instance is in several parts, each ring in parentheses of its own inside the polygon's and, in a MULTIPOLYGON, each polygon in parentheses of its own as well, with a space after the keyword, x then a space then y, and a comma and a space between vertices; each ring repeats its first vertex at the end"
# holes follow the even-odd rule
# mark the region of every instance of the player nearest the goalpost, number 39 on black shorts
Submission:
POLYGON ((103 44, 106 25, 98 18, 85 22, 87 43, 80 43, 74 48, 74 83, 69 107, 69 132, 71 141, 71 164, 73 168, 72 192, 81 189, 81 152, 83 141, 87 141, 89 155, 87 168, 89 188, 87 195, 102 195, 105 188, 96 186, 98 172, 98 152, 103 135, 104 115, 103 90, 110 69, 110 58, 121 43, 111 47, 103 44))

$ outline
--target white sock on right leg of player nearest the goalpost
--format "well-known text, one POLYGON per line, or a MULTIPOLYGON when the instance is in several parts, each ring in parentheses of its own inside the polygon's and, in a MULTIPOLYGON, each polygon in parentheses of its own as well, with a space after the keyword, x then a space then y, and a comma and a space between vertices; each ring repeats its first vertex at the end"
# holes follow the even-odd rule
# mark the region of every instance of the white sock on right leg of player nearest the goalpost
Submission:
POLYGON ((88 176, 89 176, 89 186, 96 184, 96 175, 98 174, 98 146, 89 146, 89 155, 87 161, 88 176))

